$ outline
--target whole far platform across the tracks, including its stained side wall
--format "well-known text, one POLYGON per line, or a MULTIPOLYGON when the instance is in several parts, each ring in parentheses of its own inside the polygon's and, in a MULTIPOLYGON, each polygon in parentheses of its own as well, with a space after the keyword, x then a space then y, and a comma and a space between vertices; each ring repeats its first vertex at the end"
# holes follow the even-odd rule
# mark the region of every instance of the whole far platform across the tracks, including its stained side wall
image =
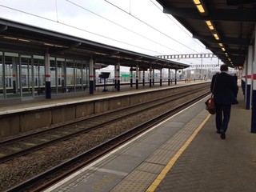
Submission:
POLYGON ((90 115, 105 113, 120 107, 133 106, 152 99, 159 99, 173 94, 175 90, 191 90, 195 87, 208 87, 208 81, 175 83, 155 82, 152 86, 140 84, 130 86, 122 84, 120 90, 114 86, 96 87, 94 94, 89 92, 73 92, 70 94, 57 94, 51 99, 40 96, 23 100, 6 100, 0 102, 0 139, 16 134, 26 134, 27 131, 50 128, 65 122, 76 121, 90 115), (30 122, 30 123, 27 123, 30 122))

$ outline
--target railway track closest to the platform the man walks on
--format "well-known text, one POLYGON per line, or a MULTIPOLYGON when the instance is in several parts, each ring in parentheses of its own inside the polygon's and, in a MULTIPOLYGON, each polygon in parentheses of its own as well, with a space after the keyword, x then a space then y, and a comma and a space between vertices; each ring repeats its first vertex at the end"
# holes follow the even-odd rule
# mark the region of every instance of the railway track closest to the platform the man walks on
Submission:
POLYGON ((36 191, 46 190, 46 188, 48 188, 49 186, 52 186, 54 183, 62 180, 62 178, 66 178, 66 176, 81 169, 83 166, 90 164, 90 162, 94 162, 96 159, 102 157, 102 155, 110 152, 111 150, 114 150, 118 146, 121 146, 123 143, 130 141, 130 139, 136 137, 138 134, 142 134, 145 130, 150 129, 150 127, 157 125, 159 122, 162 122, 164 119, 169 118, 170 116, 178 113, 179 111, 185 109, 187 106, 190 106, 194 102, 197 102, 198 100, 200 100, 202 98, 205 98, 206 95, 209 95, 209 94, 210 94, 210 92, 208 92, 206 94, 202 94, 202 95, 198 96, 197 98, 193 98, 185 103, 182 103, 181 105, 174 107, 174 109, 171 109, 163 114, 158 115, 158 117, 156 117, 154 119, 151 119, 147 122, 143 122, 139 126, 135 126, 132 130, 128 130, 125 133, 120 134, 115 138, 111 138, 107 142, 104 142, 101 145, 95 146, 94 148, 92 148, 91 150, 87 150, 83 154, 79 154, 78 156, 71 158, 70 160, 68 160, 66 162, 63 162, 62 164, 60 164, 58 166, 54 166, 52 169, 47 170, 42 174, 38 174, 37 176, 27 180, 26 182, 22 182, 22 183, 18 184, 17 186, 14 186, 14 187, 10 188, 9 190, 6 190, 6 192, 22 192, 25 190, 30 190, 31 192, 36 192, 36 191), (118 143, 117 143, 117 140, 119 141, 118 143), (102 149, 105 149, 105 150, 101 151, 102 149), (97 151, 101 151, 101 152, 96 154, 97 151), (89 160, 86 160, 85 162, 83 162, 83 160, 91 154, 96 154, 96 155, 94 155, 93 158, 90 158, 89 160), (74 166, 74 164, 76 164, 77 162, 79 162, 78 166, 74 166), (72 167, 72 166, 74 166, 74 167, 72 167), (31 188, 33 188, 34 186, 37 186, 39 182, 44 181, 46 178, 49 178, 53 174, 58 174, 58 173, 62 172, 62 170, 66 170, 66 171, 63 174, 59 175, 58 177, 52 178, 52 179, 50 179, 50 181, 44 182, 42 185, 31 190, 31 188))

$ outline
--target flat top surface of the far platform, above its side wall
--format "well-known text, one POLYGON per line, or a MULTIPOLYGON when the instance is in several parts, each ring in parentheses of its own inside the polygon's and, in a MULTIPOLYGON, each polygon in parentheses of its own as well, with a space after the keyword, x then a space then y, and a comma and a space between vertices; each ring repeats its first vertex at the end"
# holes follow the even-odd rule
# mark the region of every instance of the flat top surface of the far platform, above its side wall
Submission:
POLYGON ((136 92, 139 93, 141 91, 165 89, 167 87, 174 87, 174 86, 186 86, 186 85, 203 83, 203 82, 210 82, 210 80, 196 81, 196 82, 178 81, 176 85, 174 84, 174 82, 172 82, 170 85, 168 85, 167 82, 163 82, 162 86, 159 86, 159 83, 157 82, 151 87, 148 84, 146 84, 145 86, 139 85, 138 89, 136 89, 135 85, 133 86, 121 85, 120 91, 117 91, 114 88, 114 86, 108 86, 107 91, 102 91, 104 89, 104 86, 98 86, 94 90, 94 94, 89 94, 89 92, 85 92, 85 93, 78 92, 78 93, 71 93, 71 94, 53 95, 51 99, 46 99, 43 96, 38 98, 23 98, 22 100, 10 99, 10 100, 5 100, 3 102, 0 101, 0 115, 18 113, 22 111, 29 111, 29 110, 35 110, 35 109, 40 110, 42 108, 48 108, 53 106, 69 105, 75 102, 90 101, 95 99, 113 97, 113 96, 118 96, 126 93, 127 94, 136 93, 136 92))

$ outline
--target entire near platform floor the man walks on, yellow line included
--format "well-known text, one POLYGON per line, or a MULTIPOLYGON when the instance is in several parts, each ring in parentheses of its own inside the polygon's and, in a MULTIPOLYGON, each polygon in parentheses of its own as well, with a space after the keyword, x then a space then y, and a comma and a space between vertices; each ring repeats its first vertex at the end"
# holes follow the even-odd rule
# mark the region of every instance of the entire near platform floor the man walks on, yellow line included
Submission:
POLYGON ((206 99, 154 126, 49 191, 254 191, 256 134, 242 90, 226 139, 216 133, 206 99))

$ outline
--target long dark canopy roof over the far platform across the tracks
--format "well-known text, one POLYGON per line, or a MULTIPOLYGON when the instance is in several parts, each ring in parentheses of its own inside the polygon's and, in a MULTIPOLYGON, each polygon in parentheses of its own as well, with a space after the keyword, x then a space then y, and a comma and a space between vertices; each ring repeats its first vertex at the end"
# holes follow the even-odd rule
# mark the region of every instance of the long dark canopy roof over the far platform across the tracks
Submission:
POLYGON ((167 59, 140 54, 130 50, 93 42, 83 38, 70 36, 29 26, 0 18, 0 51, 17 51, 21 54, 46 54, 52 57, 70 58, 94 62, 100 66, 115 65, 118 61, 121 66, 140 69, 184 69, 189 65, 167 59))

